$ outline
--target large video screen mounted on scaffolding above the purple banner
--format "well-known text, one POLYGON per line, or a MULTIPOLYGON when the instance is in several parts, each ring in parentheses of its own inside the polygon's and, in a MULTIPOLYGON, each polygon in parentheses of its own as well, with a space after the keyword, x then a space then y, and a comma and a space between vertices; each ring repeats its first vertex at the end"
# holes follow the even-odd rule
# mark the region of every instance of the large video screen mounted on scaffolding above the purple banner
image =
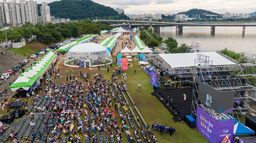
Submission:
POLYGON ((198 99, 218 113, 233 111, 234 91, 218 91, 199 81, 198 99))

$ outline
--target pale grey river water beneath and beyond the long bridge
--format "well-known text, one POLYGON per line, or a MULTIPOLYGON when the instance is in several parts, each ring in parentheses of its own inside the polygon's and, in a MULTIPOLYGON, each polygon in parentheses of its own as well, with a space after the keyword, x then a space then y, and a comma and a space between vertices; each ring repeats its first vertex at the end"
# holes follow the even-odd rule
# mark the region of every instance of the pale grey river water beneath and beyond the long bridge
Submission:
POLYGON ((235 52, 256 54, 256 27, 246 27, 242 37, 242 27, 215 27, 215 36, 211 36, 211 27, 183 27, 182 35, 176 35, 175 27, 160 27, 156 32, 164 39, 173 37, 178 44, 199 43, 201 51, 216 51, 228 48, 235 52))

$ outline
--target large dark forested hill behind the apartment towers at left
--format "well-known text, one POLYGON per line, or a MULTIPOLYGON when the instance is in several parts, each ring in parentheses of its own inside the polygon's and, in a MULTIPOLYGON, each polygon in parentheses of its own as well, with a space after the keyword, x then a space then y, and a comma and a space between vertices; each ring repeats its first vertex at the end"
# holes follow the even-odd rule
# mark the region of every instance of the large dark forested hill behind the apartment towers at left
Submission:
MULTIPOLYGON (((51 16, 59 18, 70 18, 71 20, 79 19, 94 19, 96 17, 109 19, 127 19, 126 15, 118 14, 111 7, 106 7, 102 4, 95 3, 91 0, 60 0, 48 4, 50 6, 51 16)), ((41 4, 38 4, 40 10, 41 4)), ((40 13, 38 11, 38 13, 40 13)))

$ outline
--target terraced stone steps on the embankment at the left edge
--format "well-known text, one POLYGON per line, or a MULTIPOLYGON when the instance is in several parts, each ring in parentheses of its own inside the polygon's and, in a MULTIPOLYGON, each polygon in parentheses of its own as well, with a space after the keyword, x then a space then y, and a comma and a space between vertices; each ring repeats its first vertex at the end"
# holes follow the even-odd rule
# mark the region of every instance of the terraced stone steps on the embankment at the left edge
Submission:
POLYGON ((9 53, 0 54, 0 76, 6 73, 8 69, 11 69, 11 66, 19 64, 19 62, 24 59, 25 57, 11 51, 9 51, 9 53))

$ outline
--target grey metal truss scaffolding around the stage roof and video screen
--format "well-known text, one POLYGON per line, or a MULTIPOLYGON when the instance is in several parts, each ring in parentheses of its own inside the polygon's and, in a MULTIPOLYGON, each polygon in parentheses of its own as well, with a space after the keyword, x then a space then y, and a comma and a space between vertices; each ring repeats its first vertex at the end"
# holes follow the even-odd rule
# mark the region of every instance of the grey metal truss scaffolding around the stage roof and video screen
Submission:
POLYGON ((224 54, 218 53, 233 61, 232 65, 214 66, 209 57, 198 54, 194 67, 172 68, 158 54, 149 54, 148 61, 155 68, 158 75, 158 86, 164 88, 165 77, 160 72, 165 72, 168 77, 172 75, 192 74, 192 116, 196 116, 196 107, 200 106, 217 120, 236 118, 242 121, 246 115, 256 115, 256 55, 241 53, 239 61, 224 54), (207 83, 208 86, 218 91, 234 91, 233 111, 218 113, 205 103, 198 100, 198 82, 207 83))

